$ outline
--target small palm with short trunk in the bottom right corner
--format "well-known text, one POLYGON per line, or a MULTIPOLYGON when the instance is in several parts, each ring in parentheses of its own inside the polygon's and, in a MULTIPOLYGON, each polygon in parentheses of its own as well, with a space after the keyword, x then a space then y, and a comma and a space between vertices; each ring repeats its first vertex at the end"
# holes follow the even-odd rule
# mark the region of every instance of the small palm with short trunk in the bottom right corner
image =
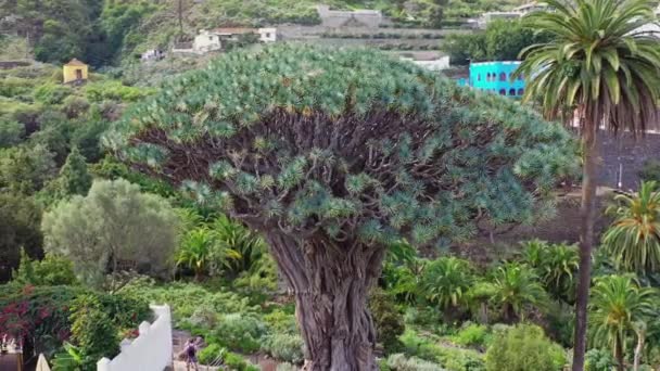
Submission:
POLYGON ((658 295, 655 289, 639 287, 630 276, 606 276, 596 281, 589 304, 594 342, 611 347, 620 371, 625 370, 625 343, 646 321, 658 295))

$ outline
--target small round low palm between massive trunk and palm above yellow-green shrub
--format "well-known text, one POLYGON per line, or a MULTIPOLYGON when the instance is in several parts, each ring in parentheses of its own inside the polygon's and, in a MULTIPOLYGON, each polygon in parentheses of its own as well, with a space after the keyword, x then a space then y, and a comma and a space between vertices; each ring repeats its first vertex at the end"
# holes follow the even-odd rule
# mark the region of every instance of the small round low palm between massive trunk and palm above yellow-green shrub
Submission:
POLYGON ((474 281, 468 260, 441 257, 430 261, 421 278, 421 289, 427 299, 445 314, 458 309, 466 302, 466 293, 474 281))

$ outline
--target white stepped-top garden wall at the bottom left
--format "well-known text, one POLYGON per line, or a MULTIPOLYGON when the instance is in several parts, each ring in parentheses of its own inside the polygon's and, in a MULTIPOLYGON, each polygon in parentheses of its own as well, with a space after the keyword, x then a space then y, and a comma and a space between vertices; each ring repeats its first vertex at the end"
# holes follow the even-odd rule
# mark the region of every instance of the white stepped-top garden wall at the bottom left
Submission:
POLYGON ((122 353, 102 358, 97 371, 163 371, 172 363, 172 315, 169 306, 152 305, 153 323, 140 323, 140 335, 122 342, 122 353))

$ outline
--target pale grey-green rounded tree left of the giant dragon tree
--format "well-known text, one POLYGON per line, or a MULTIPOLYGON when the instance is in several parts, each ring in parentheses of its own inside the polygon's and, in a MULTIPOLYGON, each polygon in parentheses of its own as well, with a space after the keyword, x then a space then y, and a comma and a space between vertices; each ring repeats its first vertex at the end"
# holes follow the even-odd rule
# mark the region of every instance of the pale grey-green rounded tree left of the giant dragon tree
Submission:
POLYGON ((87 282, 105 272, 167 274, 178 218, 167 201, 126 180, 96 181, 43 215, 46 250, 66 256, 87 282))

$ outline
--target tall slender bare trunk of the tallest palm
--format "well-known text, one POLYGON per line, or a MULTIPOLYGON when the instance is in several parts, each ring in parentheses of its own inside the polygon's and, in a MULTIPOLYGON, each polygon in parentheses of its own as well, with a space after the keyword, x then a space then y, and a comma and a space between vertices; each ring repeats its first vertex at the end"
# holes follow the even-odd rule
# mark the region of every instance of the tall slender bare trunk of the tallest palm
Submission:
POLYGON ((592 278, 592 248, 594 245, 594 221, 596 219, 596 170, 598 146, 596 128, 585 128, 582 136, 584 165, 582 171, 582 206, 580 215, 580 272, 575 291, 575 340, 573 347, 573 371, 584 369, 586 351, 587 302, 592 278))

